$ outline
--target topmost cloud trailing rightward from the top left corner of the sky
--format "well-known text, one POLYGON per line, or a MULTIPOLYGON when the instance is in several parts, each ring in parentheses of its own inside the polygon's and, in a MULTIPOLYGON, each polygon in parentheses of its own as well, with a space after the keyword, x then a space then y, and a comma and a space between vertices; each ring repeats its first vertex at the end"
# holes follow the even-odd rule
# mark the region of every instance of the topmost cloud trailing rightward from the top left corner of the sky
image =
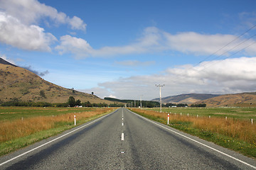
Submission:
POLYGON ((77 16, 70 18, 65 13, 36 0, 0 0, 0 8, 26 25, 38 24, 41 19, 48 17, 57 24, 66 23, 74 30, 86 28, 86 24, 77 16))

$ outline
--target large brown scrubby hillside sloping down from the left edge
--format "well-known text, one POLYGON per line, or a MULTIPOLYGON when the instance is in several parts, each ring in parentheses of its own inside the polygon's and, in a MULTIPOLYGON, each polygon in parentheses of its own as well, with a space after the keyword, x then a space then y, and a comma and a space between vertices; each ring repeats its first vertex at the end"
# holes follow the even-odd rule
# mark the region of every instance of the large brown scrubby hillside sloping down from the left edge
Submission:
POLYGON ((64 103, 70 96, 82 102, 113 103, 92 94, 65 89, 38 77, 27 69, 16 67, 3 59, 0 60, 0 101, 18 98, 20 101, 64 103))

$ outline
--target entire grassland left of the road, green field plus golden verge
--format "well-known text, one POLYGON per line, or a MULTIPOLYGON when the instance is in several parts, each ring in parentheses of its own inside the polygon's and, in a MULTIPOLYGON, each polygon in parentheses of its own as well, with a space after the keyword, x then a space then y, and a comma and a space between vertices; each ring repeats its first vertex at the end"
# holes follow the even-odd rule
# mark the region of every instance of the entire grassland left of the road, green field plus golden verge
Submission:
POLYGON ((114 108, 0 107, 0 156, 99 118, 114 108))

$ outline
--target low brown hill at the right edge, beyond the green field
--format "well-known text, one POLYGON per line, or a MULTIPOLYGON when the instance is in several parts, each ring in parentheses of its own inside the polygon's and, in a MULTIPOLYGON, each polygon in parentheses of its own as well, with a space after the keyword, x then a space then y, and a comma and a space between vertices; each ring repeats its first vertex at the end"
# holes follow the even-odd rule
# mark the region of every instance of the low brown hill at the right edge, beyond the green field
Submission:
POLYGON ((206 103, 208 107, 239 106, 256 107, 256 92, 242 94, 225 94, 214 98, 208 98, 200 103, 206 103))

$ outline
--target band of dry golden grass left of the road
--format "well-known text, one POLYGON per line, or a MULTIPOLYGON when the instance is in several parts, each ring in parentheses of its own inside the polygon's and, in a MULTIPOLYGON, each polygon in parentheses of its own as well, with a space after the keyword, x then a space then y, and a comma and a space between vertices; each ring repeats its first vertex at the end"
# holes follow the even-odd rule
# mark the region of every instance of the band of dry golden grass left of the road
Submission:
MULTIPOLYGON (((112 109, 113 108, 95 108, 93 111, 75 113, 76 120, 78 122, 82 122, 92 116, 112 111, 112 109)), ((55 128, 61 123, 72 124, 73 122, 74 113, 56 116, 38 116, 35 118, 2 122, 0 126, 0 143, 15 140, 19 137, 25 137, 41 130, 49 130, 50 128, 55 128)))

